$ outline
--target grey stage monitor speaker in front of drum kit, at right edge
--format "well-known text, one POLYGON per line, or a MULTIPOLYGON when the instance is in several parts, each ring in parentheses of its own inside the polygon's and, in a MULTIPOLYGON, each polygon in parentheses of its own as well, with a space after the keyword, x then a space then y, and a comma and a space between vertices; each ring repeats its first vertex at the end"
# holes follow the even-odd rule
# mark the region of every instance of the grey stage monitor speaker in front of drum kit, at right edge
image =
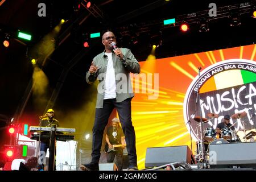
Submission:
POLYGON ((209 145, 210 168, 256 167, 256 142, 209 145))

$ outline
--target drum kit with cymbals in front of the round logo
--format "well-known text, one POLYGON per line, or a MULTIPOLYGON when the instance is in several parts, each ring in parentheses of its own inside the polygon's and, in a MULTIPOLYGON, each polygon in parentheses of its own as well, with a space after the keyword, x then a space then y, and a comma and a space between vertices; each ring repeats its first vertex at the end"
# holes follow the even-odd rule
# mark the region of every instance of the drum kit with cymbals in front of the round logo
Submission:
MULTIPOLYGON (((209 122, 211 119, 214 118, 218 118, 218 114, 214 114, 214 113, 208 113, 207 116, 210 119, 207 118, 200 118, 200 117, 195 117, 194 120, 196 122, 199 122, 199 124, 197 124, 196 127, 196 133, 197 136, 199 136, 198 134, 198 127, 200 127, 200 122, 202 121, 202 123, 207 123, 209 122)), ((233 114, 232 118, 233 119, 241 119, 244 118, 246 116, 246 112, 243 113, 237 113, 237 114, 233 114)), ((224 127, 221 129, 220 134, 217 134, 216 130, 214 130, 212 127, 208 127, 204 130, 203 133, 203 144, 204 144, 204 148, 205 148, 205 158, 207 159, 208 156, 208 145, 212 144, 212 143, 233 143, 233 142, 241 142, 240 137, 237 134, 236 130, 232 130, 231 127, 234 126, 237 122, 235 122, 233 125, 229 126, 229 127, 224 127)), ((244 127, 243 127, 244 128, 244 127)), ((244 130, 245 131, 245 130, 244 130)), ((201 155, 203 152, 202 150, 202 142, 201 140, 199 140, 197 143, 197 155, 195 156, 195 159, 197 160, 197 162, 200 162, 202 160, 202 156, 201 155)))

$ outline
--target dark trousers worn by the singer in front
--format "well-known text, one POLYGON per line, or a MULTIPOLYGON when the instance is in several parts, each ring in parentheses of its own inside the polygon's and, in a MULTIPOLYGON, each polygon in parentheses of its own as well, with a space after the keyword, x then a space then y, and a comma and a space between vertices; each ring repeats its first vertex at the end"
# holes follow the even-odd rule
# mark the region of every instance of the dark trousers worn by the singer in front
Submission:
POLYGON ((104 129, 108 124, 108 119, 114 107, 117 109, 123 133, 125 134, 126 148, 129 158, 129 167, 137 167, 137 154, 135 147, 135 131, 131 123, 131 98, 122 102, 117 102, 115 98, 107 99, 103 102, 102 109, 96 109, 93 126, 92 140, 92 162, 98 163, 101 156, 101 145, 104 129))

